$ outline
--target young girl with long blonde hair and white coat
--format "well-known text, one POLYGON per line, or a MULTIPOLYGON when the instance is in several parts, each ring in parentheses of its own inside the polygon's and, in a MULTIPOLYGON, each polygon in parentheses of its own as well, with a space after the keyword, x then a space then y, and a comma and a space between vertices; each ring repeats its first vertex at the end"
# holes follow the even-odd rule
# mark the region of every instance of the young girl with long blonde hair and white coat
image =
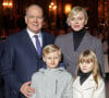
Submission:
POLYGON ((77 75, 73 82, 73 98, 106 98, 105 82, 100 76, 98 60, 93 50, 78 57, 77 75))

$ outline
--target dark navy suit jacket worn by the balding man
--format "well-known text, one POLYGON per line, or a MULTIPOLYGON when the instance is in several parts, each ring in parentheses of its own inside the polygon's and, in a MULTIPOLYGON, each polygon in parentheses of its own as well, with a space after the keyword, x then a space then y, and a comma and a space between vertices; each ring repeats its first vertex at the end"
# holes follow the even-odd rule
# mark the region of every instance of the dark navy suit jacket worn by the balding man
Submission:
MULTIPOLYGON (((55 42, 55 36, 43 32, 43 47, 55 42)), ((39 57, 26 29, 11 35, 5 41, 4 54, 1 62, 1 73, 8 86, 8 97, 20 97, 23 83, 31 81, 32 74, 43 66, 39 57)))

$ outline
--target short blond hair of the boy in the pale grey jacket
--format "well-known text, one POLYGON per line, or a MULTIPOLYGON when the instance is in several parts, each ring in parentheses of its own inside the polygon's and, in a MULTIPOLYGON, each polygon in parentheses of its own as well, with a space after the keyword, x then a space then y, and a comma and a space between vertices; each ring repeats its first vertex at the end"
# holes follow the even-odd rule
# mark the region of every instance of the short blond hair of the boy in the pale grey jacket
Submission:
POLYGON ((43 49, 43 56, 45 57, 45 54, 51 53, 51 52, 56 52, 59 51, 59 56, 61 57, 61 50, 58 46, 56 45, 47 45, 44 49, 43 49))

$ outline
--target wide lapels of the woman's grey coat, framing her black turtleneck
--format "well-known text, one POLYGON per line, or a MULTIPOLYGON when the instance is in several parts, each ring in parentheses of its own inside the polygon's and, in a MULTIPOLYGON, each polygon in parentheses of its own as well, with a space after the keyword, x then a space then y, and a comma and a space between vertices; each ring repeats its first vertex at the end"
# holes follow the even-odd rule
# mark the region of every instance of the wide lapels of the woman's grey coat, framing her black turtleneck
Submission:
POLYGON ((87 47, 87 44, 89 41, 92 41, 90 35, 88 33, 85 33, 84 38, 82 39, 78 48, 76 49, 76 51, 74 51, 73 34, 70 33, 70 34, 65 35, 64 42, 66 44, 66 47, 68 47, 68 42, 69 42, 69 48, 65 48, 65 49, 68 51, 68 56, 69 56, 70 60, 73 57, 77 58, 77 56, 87 47))

